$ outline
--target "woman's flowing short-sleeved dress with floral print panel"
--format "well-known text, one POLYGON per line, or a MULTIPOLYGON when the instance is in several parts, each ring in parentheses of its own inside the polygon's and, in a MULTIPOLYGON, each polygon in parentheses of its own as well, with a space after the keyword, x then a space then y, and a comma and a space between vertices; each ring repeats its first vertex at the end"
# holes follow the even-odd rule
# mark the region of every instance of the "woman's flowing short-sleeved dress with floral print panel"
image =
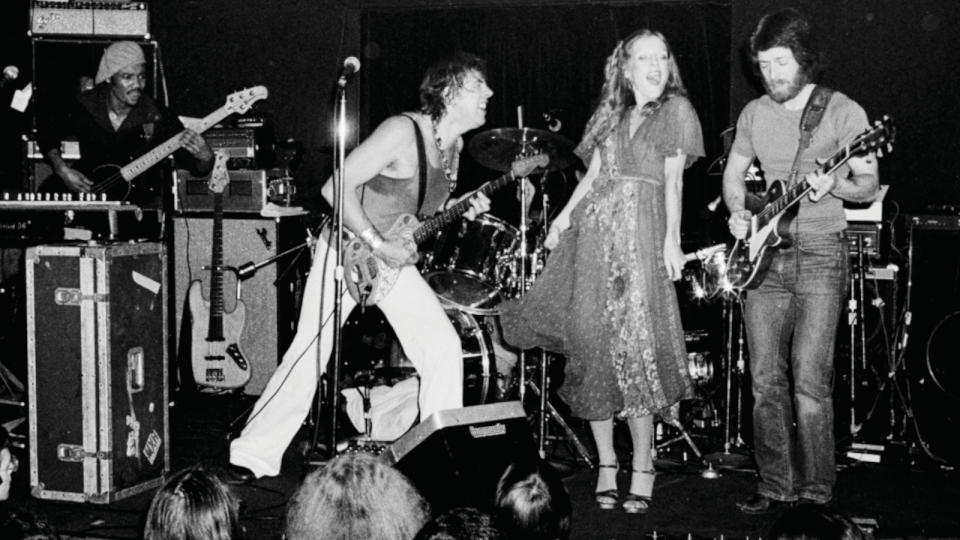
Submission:
MULTIPOLYGON (((673 97, 599 148, 601 169, 530 291, 505 306, 504 338, 566 357, 560 396, 578 418, 663 413, 691 393, 676 289, 663 262, 664 159, 703 156, 690 102, 673 97)), ((586 156, 585 160, 588 160, 586 156)))

